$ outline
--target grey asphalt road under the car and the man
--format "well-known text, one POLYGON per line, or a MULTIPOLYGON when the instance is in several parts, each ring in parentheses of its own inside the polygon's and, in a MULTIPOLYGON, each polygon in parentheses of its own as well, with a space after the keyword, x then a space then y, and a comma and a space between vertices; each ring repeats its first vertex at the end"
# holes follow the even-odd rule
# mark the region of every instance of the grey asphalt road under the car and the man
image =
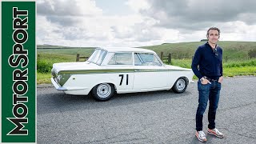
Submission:
MULTIPOLYGON (((255 82, 256 77, 224 79, 216 125, 225 138, 207 134, 206 143, 256 143, 255 82)), ((37 92, 38 143, 202 143, 194 136, 197 82, 183 94, 118 94, 108 102, 54 87, 37 92)))

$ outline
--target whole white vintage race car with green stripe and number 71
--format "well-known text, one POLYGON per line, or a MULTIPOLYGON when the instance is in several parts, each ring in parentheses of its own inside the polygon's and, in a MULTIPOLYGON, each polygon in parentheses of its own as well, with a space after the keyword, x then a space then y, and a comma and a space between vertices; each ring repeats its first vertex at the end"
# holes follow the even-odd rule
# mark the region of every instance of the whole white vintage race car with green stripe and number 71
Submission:
POLYGON ((66 94, 87 95, 98 101, 115 93, 170 90, 182 93, 193 71, 165 65, 152 50, 97 48, 86 62, 54 63, 51 82, 66 94))

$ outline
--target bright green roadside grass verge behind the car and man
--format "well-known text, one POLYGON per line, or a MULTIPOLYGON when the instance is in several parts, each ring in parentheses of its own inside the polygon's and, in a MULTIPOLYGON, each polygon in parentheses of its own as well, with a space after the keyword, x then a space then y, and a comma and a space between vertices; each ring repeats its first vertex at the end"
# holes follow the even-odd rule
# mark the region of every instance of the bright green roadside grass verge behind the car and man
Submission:
MULTIPOLYGON (((56 62, 75 62, 75 56, 68 54, 38 54, 38 84, 50 83, 50 70, 56 62)), ((172 59, 171 65, 190 68, 191 62, 191 59, 172 59)), ((166 61, 165 63, 167 64, 166 61)), ((223 74, 225 77, 256 75, 256 58, 234 59, 223 62, 223 74)), ((194 76, 194 79, 197 79, 197 77, 194 76)))

